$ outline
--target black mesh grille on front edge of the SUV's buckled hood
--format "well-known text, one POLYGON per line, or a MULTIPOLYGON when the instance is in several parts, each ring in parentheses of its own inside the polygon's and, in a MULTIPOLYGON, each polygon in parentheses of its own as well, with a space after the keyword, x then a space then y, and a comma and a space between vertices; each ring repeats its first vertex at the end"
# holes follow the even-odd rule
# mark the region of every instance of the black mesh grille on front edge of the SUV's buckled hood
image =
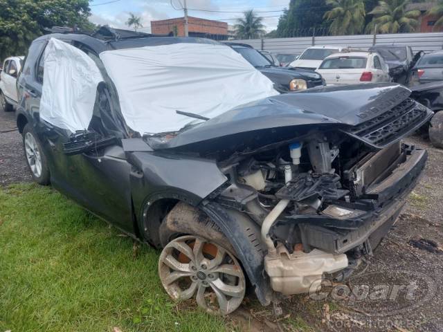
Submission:
POLYGON ((383 148, 417 129, 431 116, 431 111, 408 98, 389 111, 352 127, 347 133, 369 145, 383 148))

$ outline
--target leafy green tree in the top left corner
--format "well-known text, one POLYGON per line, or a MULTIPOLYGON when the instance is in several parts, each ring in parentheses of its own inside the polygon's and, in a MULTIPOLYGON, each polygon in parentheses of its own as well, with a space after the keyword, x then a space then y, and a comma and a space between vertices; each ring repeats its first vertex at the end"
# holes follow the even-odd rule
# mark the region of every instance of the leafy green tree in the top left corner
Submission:
POLYGON ((0 8, 0 59, 24 55, 44 28, 93 27, 88 0, 0 0, 0 8))

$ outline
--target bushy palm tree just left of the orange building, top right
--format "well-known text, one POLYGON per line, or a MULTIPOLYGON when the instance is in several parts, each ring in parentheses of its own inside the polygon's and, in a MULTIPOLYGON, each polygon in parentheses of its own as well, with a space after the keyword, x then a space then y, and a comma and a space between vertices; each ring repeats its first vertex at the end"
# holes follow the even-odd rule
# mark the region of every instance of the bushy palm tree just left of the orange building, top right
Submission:
POLYGON ((406 11, 406 6, 410 0, 385 0, 379 1, 368 15, 374 18, 366 26, 366 32, 372 33, 377 24, 377 33, 411 33, 418 26, 417 18, 420 16, 419 10, 406 11))

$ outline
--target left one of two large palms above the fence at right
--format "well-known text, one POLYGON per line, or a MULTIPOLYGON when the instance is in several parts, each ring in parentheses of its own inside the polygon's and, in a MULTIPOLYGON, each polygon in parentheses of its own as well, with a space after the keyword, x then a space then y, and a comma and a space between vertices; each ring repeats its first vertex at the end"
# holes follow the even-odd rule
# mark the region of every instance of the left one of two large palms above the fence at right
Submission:
POLYGON ((332 10, 323 16, 331 21, 329 32, 332 35, 357 35, 365 26, 365 4, 363 0, 326 0, 332 10))

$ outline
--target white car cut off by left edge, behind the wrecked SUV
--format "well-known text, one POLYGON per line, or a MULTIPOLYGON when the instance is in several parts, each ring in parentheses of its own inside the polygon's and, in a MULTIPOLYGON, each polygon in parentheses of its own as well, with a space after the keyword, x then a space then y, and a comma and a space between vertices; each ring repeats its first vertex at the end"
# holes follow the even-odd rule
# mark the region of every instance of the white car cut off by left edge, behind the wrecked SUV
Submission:
POLYGON ((7 57, 0 73, 0 111, 12 111, 17 105, 17 75, 24 57, 7 57))

